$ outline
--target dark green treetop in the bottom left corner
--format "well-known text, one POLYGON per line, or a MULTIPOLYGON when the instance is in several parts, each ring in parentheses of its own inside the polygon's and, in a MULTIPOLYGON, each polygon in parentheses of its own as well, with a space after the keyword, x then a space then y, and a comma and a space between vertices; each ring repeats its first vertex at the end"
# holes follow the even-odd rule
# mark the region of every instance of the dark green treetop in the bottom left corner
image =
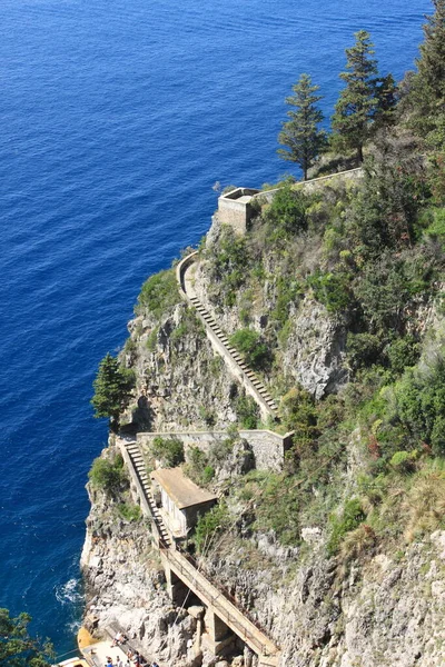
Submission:
POLYGON ((0 609, 0 665, 8 667, 49 667, 53 661, 52 645, 41 643, 28 633, 29 614, 11 618, 8 609, 0 609))

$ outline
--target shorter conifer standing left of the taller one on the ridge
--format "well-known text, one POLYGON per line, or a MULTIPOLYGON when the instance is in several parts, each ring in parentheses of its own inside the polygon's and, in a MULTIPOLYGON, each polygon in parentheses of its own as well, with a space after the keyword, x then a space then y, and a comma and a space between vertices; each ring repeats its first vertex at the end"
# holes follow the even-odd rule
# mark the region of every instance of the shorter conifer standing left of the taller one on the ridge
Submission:
POLYGON ((326 132, 318 128, 323 113, 316 107, 322 99, 316 94, 317 90, 319 87, 313 86, 309 74, 300 76, 293 86, 294 94, 286 98, 286 103, 295 109, 287 112, 289 120, 283 122, 283 130, 278 135, 278 142, 286 146, 278 149, 279 156, 299 165, 305 180, 307 170, 327 143, 326 132))

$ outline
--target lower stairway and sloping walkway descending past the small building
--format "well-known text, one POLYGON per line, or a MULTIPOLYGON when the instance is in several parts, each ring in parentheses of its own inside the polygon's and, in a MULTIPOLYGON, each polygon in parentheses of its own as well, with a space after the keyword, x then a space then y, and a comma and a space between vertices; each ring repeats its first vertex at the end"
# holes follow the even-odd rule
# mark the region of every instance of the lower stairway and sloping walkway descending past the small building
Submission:
POLYGON ((151 495, 146 465, 137 442, 119 439, 118 444, 138 490, 142 511, 155 526, 155 538, 159 542, 161 557, 187 587, 208 607, 215 609, 221 620, 258 655, 259 666, 276 667, 280 651, 274 641, 248 617, 249 613, 246 609, 243 609, 219 584, 204 575, 192 557, 170 539, 151 495))

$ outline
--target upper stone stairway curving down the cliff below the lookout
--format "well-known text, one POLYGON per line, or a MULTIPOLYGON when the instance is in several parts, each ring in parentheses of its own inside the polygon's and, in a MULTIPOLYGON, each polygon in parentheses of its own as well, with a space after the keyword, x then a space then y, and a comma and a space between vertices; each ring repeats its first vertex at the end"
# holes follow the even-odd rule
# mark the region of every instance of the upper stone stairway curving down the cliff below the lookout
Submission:
POLYGON ((255 372, 248 367, 240 354, 230 345, 227 336, 209 311, 202 306, 196 296, 194 288, 192 270, 197 259, 197 252, 191 252, 185 257, 177 266, 177 280, 181 297, 191 306, 206 328, 207 337, 214 345, 214 348, 226 361, 233 375, 241 381, 246 391, 254 398, 264 416, 278 417, 278 407, 267 391, 263 382, 255 372))

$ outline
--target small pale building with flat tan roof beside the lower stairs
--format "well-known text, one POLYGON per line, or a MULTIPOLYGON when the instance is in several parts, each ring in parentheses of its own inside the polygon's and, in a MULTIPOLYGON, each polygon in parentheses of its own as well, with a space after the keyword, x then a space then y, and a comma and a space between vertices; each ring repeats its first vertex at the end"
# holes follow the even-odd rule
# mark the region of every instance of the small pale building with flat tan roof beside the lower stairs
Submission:
POLYGON ((201 489, 186 477, 181 468, 161 468, 150 475, 154 497, 162 519, 175 539, 184 539, 208 511, 217 496, 201 489))

